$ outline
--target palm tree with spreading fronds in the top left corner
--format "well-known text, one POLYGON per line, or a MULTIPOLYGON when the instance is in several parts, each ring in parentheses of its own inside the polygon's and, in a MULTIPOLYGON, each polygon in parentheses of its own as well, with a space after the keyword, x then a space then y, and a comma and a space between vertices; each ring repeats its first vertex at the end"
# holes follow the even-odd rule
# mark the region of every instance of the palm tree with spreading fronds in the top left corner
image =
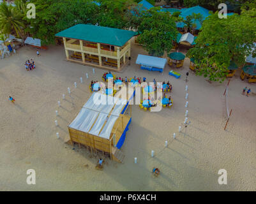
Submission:
POLYGON ((22 36, 22 28, 24 27, 23 16, 19 9, 15 6, 7 5, 6 1, 0 4, 0 31, 2 33, 11 34, 15 31, 18 37, 22 36))

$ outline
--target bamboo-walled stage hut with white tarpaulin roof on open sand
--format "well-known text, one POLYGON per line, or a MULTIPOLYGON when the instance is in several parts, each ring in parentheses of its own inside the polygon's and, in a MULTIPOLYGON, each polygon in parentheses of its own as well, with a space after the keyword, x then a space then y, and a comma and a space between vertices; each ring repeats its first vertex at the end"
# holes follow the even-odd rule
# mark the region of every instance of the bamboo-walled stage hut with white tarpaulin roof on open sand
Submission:
POLYGON ((109 154, 110 159, 121 163, 124 156, 120 148, 132 121, 129 101, 94 92, 68 126, 72 145, 78 143, 91 152, 109 154))

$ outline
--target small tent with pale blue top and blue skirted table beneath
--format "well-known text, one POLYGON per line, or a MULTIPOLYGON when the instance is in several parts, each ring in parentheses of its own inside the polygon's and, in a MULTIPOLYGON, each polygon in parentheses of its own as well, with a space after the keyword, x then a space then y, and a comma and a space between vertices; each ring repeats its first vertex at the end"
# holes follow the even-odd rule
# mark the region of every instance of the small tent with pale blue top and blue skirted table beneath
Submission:
POLYGON ((161 57, 153 57, 149 55, 138 55, 136 64, 140 64, 141 69, 148 71, 160 71, 163 72, 167 59, 161 57))

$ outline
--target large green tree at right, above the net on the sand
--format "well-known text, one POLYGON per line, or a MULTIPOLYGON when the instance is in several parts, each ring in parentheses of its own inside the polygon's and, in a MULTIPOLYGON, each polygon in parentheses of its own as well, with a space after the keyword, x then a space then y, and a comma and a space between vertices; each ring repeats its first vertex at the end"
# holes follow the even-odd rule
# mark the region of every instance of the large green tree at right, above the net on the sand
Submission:
POLYGON ((230 60, 243 66, 256 39, 256 19, 252 18, 255 15, 256 10, 250 10, 221 19, 216 12, 204 20, 197 44, 187 53, 195 58, 197 74, 223 82, 230 60))

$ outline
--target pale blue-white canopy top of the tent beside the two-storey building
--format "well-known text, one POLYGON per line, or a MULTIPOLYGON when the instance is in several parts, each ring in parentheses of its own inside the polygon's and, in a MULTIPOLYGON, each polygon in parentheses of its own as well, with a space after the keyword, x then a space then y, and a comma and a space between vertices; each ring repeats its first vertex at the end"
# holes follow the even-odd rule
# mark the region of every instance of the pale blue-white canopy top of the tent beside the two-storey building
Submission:
POLYGON ((144 65, 144 66, 151 66, 154 68, 165 68, 165 64, 167 59, 160 58, 160 57, 152 57, 149 55, 138 55, 136 64, 144 65))

